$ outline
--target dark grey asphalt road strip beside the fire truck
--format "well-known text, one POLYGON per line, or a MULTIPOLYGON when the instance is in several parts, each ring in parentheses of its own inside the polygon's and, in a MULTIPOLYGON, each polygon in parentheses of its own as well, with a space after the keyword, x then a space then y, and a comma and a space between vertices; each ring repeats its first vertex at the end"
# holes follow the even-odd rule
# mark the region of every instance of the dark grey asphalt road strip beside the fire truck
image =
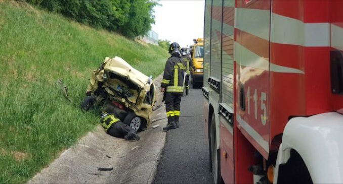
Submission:
POLYGON ((201 89, 181 100, 180 128, 166 134, 166 144, 153 183, 211 183, 205 143, 201 89))

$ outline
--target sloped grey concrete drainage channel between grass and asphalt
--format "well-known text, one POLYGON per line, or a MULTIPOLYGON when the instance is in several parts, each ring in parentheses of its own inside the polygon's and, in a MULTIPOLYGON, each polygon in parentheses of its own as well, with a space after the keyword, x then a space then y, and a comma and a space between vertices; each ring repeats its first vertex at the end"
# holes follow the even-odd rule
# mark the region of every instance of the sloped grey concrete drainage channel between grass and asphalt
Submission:
MULTIPOLYGON (((154 80, 156 87, 161 79, 154 80)), ((167 124, 163 94, 157 90, 157 95, 160 106, 153 112, 153 123, 139 134, 140 141, 111 137, 98 126, 28 183, 151 183, 165 144, 162 127, 167 124)))

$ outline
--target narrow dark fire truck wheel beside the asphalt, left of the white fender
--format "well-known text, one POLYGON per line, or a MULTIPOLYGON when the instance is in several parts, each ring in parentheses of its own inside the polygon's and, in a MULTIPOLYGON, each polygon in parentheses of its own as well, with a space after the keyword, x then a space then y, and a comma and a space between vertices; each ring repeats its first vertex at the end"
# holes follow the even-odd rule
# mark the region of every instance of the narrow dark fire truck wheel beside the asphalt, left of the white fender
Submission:
POLYGON ((215 184, 221 181, 221 166, 220 166, 220 149, 217 149, 217 136, 216 136, 216 120, 215 116, 212 115, 210 128, 210 156, 213 182, 215 184))

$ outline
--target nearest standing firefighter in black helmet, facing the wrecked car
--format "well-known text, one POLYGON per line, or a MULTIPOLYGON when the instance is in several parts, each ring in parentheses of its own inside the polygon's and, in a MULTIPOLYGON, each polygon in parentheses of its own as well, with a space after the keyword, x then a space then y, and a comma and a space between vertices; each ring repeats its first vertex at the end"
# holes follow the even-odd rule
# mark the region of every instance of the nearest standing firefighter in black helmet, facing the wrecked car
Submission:
POLYGON ((168 124, 163 131, 179 127, 181 95, 184 91, 186 66, 181 59, 180 45, 176 42, 169 46, 168 58, 161 83, 161 92, 165 92, 165 110, 168 124))

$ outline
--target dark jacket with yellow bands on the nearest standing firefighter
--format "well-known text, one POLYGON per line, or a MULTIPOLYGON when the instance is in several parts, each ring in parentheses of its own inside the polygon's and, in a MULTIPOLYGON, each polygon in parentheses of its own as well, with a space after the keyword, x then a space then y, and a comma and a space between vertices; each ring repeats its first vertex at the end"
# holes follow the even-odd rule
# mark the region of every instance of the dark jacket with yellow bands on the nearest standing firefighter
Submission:
POLYGON ((161 87, 166 88, 166 92, 183 93, 185 72, 186 66, 180 56, 172 55, 165 63, 161 87))

